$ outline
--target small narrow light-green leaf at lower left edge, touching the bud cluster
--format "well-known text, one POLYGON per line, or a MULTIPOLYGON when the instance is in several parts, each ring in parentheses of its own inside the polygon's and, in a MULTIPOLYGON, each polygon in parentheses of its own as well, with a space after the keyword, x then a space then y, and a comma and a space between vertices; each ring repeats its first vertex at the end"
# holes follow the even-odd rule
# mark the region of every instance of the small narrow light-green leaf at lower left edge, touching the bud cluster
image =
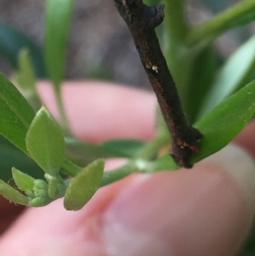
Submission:
POLYGON ((29 197, 22 195, 19 191, 14 190, 13 187, 0 179, 0 194, 11 202, 21 205, 27 205, 29 197))

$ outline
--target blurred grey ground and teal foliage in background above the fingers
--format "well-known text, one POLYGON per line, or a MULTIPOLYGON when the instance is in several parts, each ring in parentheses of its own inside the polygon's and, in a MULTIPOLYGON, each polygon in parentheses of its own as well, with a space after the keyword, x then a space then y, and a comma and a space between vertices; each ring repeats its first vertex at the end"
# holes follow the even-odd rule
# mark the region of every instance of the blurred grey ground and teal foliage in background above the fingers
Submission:
MULTIPOLYGON (((17 67, 20 48, 31 49, 37 76, 46 78, 43 66, 43 15, 45 0, 0 1, 0 71, 10 75, 17 67)), ((237 0, 188 0, 190 24, 199 24, 237 0)), ((235 29, 215 43, 219 64, 255 31, 235 29)), ((103 79, 150 89, 127 26, 112 0, 76 0, 66 56, 66 79, 103 79)))

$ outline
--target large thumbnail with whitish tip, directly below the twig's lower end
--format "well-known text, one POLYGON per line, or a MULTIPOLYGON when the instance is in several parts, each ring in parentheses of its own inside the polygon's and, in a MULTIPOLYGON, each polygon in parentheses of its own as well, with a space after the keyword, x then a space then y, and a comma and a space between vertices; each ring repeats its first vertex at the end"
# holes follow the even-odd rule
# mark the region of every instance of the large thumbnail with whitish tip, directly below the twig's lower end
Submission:
POLYGON ((139 175, 103 216, 105 251, 122 256, 230 255, 255 212, 255 165, 235 145, 191 170, 139 175))

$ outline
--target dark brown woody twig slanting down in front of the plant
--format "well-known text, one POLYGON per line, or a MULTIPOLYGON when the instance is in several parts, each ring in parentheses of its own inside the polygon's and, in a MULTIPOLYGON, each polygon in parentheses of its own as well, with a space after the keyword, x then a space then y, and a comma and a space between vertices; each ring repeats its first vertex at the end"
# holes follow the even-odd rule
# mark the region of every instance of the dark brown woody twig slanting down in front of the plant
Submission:
POLYGON ((184 116, 178 91, 161 52, 155 28, 164 19, 164 5, 147 6, 142 0, 114 0, 127 23, 144 70, 154 89, 167 128, 172 137, 170 155, 179 166, 191 168, 189 156, 199 151, 201 133, 184 116))

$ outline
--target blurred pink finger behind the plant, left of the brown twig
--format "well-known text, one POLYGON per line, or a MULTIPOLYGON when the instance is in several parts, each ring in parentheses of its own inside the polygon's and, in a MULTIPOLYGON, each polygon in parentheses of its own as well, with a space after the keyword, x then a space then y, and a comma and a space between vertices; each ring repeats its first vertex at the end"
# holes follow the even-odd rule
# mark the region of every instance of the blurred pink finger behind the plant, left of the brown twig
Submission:
MULTIPOLYGON (((57 115, 48 82, 39 82, 42 99, 57 115)), ((63 99, 73 133, 99 142, 114 138, 149 139, 154 134, 156 98, 149 92, 106 82, 64 82, 63 99)))

